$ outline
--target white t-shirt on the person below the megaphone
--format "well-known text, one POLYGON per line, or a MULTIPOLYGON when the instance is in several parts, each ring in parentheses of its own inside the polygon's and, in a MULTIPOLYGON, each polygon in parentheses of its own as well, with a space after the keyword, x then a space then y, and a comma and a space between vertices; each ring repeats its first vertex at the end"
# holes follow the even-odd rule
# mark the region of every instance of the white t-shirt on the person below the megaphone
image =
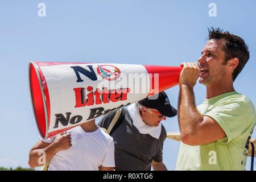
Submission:
MULTIPOLYGON (((67 133, 71 134, 72 146, 52 157, 48 171, 98 171, 100 166, 115 167, 114 141, 105 131, 98 128, 88 133, 77 126, 67 133)), ((53 137, 41 140, 52 143, 53 137)))

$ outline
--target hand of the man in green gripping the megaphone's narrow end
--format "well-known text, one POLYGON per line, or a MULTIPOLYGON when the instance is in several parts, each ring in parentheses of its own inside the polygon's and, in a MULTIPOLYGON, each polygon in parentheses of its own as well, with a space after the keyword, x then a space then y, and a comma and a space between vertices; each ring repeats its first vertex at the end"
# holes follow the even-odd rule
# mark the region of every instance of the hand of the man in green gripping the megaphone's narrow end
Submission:
POLYGON ((180 65, 183 67, 180 78, 179 78, 179 86, 187 85, 191 88, 196 85, 197 78, 200 75, 200 65, 199 63, 182 63, 180 65))

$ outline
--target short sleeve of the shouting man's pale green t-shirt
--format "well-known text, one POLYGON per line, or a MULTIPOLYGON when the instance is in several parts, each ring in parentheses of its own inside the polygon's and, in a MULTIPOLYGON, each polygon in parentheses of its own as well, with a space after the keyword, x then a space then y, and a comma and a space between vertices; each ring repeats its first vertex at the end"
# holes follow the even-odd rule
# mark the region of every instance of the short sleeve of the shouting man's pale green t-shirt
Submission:
POLYGON ((221 143, 229 143, 230 140, 240 135, 248 122, 245 103, 241 100, 222 101, 203 115, 214 119, 226 133, 227 137, 218 140, 221 143))

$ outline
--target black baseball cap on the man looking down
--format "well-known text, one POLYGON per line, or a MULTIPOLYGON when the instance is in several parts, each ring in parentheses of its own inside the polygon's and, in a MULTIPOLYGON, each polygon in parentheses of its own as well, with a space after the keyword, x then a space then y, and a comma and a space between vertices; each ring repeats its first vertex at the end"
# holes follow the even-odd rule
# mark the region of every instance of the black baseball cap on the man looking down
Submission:
POLYGON ((148 98, 144 98, 143 100, 139 101, 139 104, 151 109, 156 109, 166 117, 174 117, 177 115, 177 110, 171 106, 165 92, 158 93, 158 97, 154 95, 148 98), (152 97, 155 97, 155 99, 152 97))

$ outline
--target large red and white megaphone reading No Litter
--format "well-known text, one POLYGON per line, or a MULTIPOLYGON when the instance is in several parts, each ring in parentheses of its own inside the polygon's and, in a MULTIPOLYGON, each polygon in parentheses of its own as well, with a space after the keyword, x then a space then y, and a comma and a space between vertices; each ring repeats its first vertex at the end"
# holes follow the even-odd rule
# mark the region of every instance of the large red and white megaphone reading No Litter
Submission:
POLYGON ((46 139, 179 82, 182 67, 30 62, 36 125, 46 139))

